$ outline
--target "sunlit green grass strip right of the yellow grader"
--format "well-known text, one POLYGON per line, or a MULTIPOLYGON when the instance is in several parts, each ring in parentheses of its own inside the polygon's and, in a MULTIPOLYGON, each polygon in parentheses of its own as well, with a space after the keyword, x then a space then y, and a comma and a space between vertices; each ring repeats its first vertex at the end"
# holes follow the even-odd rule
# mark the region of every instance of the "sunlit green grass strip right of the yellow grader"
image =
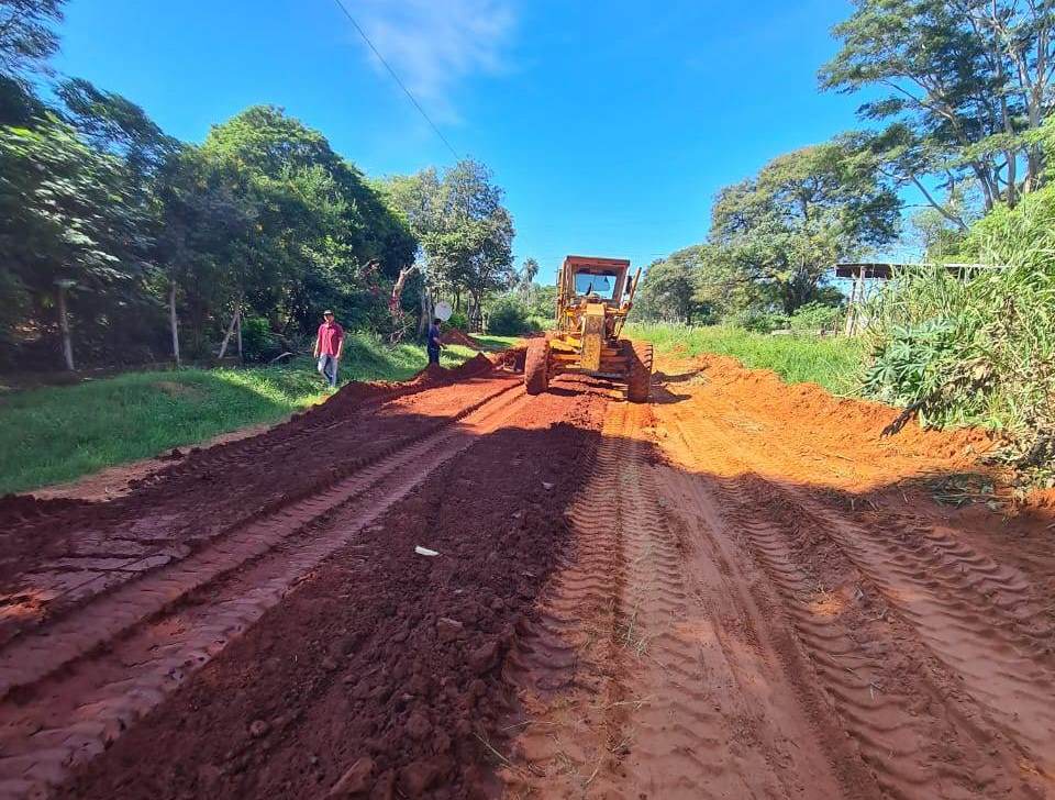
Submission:
POLYGON ((752 369, 771 369, 789 384, 820 384, 835 395, 860 386, 864 348, 857 340, 807 335, 770 336, 737 327, 674 324, 628 325, 632 338, 652 342, 658 354, 733 356, 752 369))

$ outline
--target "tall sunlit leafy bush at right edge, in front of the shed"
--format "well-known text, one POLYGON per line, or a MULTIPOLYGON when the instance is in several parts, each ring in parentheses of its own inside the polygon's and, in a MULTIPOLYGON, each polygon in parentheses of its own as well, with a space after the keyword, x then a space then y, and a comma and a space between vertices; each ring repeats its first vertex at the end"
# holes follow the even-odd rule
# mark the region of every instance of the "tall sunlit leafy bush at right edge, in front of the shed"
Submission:
POLYGON ((923 424, 1000 430, 1009 462, 1044 469, 1055 459, 1055 246, 1008 243, 992 242, 1001 268, 909 270, 866 307, 864 389, 923 424))

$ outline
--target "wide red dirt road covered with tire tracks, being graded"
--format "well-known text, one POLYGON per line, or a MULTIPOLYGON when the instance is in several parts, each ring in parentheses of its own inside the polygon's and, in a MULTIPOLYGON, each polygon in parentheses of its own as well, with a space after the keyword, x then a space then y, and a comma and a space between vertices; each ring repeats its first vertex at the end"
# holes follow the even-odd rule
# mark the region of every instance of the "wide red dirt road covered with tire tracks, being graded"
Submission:
POLYGON ((477 360, 5 500, 0 797, 1055 797, 1043 499, 933 502, 978 434, 663 369, 477 360))

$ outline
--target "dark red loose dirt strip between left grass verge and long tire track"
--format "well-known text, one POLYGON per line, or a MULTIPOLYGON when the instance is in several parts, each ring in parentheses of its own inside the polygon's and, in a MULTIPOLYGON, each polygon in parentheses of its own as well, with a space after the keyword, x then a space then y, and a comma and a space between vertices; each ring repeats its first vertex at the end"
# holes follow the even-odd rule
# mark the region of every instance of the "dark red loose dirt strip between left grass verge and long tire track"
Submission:
POLYGON ((258 436, 192 451, 111 502, 0 502, 0 645, 434 433, 489 390, 473 378, 490 369, 480 356, 407 384, 348 385, 258 436), (460 403, 425 391, 458 378, 468 379, 460 403))

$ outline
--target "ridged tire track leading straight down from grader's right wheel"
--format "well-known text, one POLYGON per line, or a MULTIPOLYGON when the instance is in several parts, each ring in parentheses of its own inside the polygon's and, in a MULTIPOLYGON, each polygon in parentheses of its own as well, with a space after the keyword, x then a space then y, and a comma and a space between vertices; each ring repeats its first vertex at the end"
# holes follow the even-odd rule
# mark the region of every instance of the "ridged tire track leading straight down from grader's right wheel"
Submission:
POLYGON ((786 686, 766 676, 762 713, 757 670, 734 665, 722 644, 714 605, 700 597, 703 586, 724 593, 713 582, 721 568, 687 570, 642 438, 649 414, 610 408, 593 477, 569 512, 574 556, 546 592, 546 624, 525 632, 508 662, 525 718, 513 723, 524 732, 503 775, 509 792, 835 797, 823 758, 797 752, 792 736, 809 726, 786 686))

